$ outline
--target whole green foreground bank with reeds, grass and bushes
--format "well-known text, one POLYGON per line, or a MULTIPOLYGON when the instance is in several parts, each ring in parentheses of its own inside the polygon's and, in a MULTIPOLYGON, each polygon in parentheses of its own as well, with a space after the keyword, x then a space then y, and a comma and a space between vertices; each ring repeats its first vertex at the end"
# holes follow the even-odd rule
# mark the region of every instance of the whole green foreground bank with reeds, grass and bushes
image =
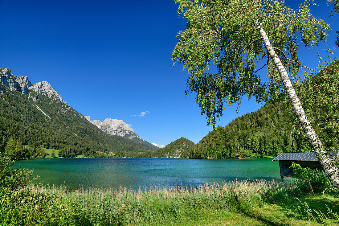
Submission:
POLYGON ((337 225, 338 193, 321 171, 287 182, 233 181, 138 190, 37 185, 1 154, 0 225, 337 225), (310 195, 308 180, 316 196, 310 195), (327 189, 325 194, 321 192, 327 189))

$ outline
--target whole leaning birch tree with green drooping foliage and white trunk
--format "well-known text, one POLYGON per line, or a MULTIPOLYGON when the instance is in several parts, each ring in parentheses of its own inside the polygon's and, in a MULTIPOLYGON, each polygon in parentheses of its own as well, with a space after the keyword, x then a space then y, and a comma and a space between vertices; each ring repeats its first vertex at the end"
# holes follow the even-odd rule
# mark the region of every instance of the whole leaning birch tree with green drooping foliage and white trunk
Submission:
MULTIPOLYGON (((338 168, 312 128, 293 88, 299 71, 309 69, 298 55, 299 44, 308 48, 326 41, 330 26, 315 18, 306 0, 295 11, 276 0, 176 0, 178 14, 187 20, 172 54, 173 65, 188 70, 187 92, 196 102, 207 124, 215 126, 223 105, 252 96, 259 101, 281 92, 290 99, 300 126, 333 186, 339 186, 338 168), (210 64, 216 73, 210 73, 210 64), (259 73, 266 69, 267 78, 259 73), (265 82, 264 82, 265 81, 265 82)), ((310 69, 311 70, 311 69, 310 69)), ((316 69, 312 69, 316 70, 316 69)))

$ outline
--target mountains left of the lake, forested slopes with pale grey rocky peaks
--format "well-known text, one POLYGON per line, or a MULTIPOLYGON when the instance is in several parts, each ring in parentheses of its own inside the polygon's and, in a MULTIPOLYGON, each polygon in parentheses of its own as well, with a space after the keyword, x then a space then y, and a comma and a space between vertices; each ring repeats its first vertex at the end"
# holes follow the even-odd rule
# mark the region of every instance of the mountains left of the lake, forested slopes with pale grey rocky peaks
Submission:
POLYGON ((65 102, 46 81, 33 84, 27 76, 0 69, 0 135, 16 135, 28 146, 87 153, 142 153, 158 147, 141 139, 122 120, 93 120, 65 102))

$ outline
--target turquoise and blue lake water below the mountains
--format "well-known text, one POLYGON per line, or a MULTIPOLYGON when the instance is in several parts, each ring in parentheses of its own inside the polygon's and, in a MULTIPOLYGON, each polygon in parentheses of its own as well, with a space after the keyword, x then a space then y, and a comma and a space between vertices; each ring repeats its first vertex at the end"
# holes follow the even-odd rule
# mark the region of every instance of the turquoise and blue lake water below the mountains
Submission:
POLYGON ((281 180, 278 161, 272 158, 173 159, 173 158, 59 158, 17 161, 14 167, 34 169, 45 184, 72 188, 114 188, 281 180))

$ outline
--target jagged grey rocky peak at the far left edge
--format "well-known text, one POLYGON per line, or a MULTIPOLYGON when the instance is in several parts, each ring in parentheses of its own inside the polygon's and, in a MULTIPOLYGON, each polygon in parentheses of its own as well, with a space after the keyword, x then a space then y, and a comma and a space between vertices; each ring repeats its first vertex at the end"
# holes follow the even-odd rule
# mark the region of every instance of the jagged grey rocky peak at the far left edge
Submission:
POLYGON ((32 83, 27 76, 13 75, 8 68, 0 69, 0 93, 3 93, 4 89, 8 88, 26 94, 31 86, 32 83))

